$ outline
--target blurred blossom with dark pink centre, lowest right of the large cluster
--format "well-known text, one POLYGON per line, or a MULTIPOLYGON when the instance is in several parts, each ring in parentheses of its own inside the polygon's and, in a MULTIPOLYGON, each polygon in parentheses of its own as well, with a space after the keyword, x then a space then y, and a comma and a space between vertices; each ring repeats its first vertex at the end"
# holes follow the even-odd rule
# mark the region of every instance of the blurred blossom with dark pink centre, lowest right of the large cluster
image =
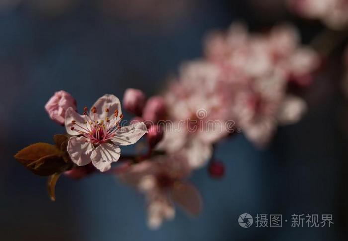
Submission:
POLYGON ((256 81, 252 89, 238 94, 232 107, 237 125, 258 147, 269 143, 278 124, 296 123, 307 109, 301 98, 285 93, 281 80, 273 77, 256 81))

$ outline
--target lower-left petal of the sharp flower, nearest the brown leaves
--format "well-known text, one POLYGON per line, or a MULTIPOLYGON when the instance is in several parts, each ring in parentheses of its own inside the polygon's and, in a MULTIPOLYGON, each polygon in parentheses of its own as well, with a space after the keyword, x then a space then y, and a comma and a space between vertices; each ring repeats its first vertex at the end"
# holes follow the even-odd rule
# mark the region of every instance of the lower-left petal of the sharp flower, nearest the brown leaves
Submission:
POLYGON ((70 137, 67 151, 71 160, 78 166, 84 166, 91 162, 90 155, 94 150, 93 145, 87 142, 85 137, 70 137))

